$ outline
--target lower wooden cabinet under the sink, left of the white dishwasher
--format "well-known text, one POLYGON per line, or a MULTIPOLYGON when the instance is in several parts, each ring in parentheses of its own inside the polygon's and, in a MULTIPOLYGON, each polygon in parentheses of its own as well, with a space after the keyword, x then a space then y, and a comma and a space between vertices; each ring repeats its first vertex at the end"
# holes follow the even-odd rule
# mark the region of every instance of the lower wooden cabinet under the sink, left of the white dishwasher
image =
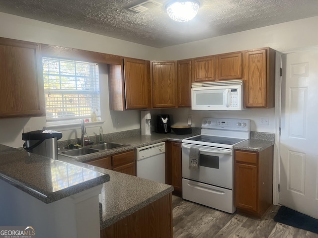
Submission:
POLYGON ((136 176, 135 150, 88 161, 86 164, 136 176))

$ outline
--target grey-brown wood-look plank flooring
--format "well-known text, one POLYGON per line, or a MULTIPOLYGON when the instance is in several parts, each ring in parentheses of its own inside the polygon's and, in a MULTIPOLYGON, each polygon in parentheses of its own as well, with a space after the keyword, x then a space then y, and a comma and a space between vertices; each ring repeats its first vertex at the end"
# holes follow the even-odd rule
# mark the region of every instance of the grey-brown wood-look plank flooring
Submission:
POLYGON ((274 222, 279 206, 264 219, 229 214, 172 196, 174 238, 318 238, 318 234, 274 222))

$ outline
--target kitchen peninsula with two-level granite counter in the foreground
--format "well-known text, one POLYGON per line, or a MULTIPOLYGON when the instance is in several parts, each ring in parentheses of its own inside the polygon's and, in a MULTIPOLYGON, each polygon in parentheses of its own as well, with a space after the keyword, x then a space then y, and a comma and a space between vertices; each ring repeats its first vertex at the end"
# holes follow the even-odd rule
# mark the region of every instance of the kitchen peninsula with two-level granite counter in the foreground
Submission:
POLYGON ((0 225, 32 226, 39 237, 115 237, 131 233, 124 223, 132 220, 142 232, 160 226, 162 237, 172 237, 167 184, 0 145, 0 190, 0 225))

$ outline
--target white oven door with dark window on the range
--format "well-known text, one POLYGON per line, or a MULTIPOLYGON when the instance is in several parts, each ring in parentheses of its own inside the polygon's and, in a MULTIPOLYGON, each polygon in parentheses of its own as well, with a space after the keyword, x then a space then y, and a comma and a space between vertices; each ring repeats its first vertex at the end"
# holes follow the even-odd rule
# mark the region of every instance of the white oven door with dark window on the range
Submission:
POLYGON ((182 177, 224 188, 233 188, 233 152, 210 146, 182 143, 182 177), (199 168, 189 170, 190 148, 198 148, 199 168))

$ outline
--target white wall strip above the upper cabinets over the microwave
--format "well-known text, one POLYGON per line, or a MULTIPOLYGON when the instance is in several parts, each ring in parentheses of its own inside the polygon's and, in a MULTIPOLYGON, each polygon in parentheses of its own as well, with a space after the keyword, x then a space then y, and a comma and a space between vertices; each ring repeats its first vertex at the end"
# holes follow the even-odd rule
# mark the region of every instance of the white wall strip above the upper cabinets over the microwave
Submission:
POLYGON ((317 23, 318 16, 165 47, 160 49, 160 60, 181 60, 260 47, 285 52, 317 46, 317 23))

